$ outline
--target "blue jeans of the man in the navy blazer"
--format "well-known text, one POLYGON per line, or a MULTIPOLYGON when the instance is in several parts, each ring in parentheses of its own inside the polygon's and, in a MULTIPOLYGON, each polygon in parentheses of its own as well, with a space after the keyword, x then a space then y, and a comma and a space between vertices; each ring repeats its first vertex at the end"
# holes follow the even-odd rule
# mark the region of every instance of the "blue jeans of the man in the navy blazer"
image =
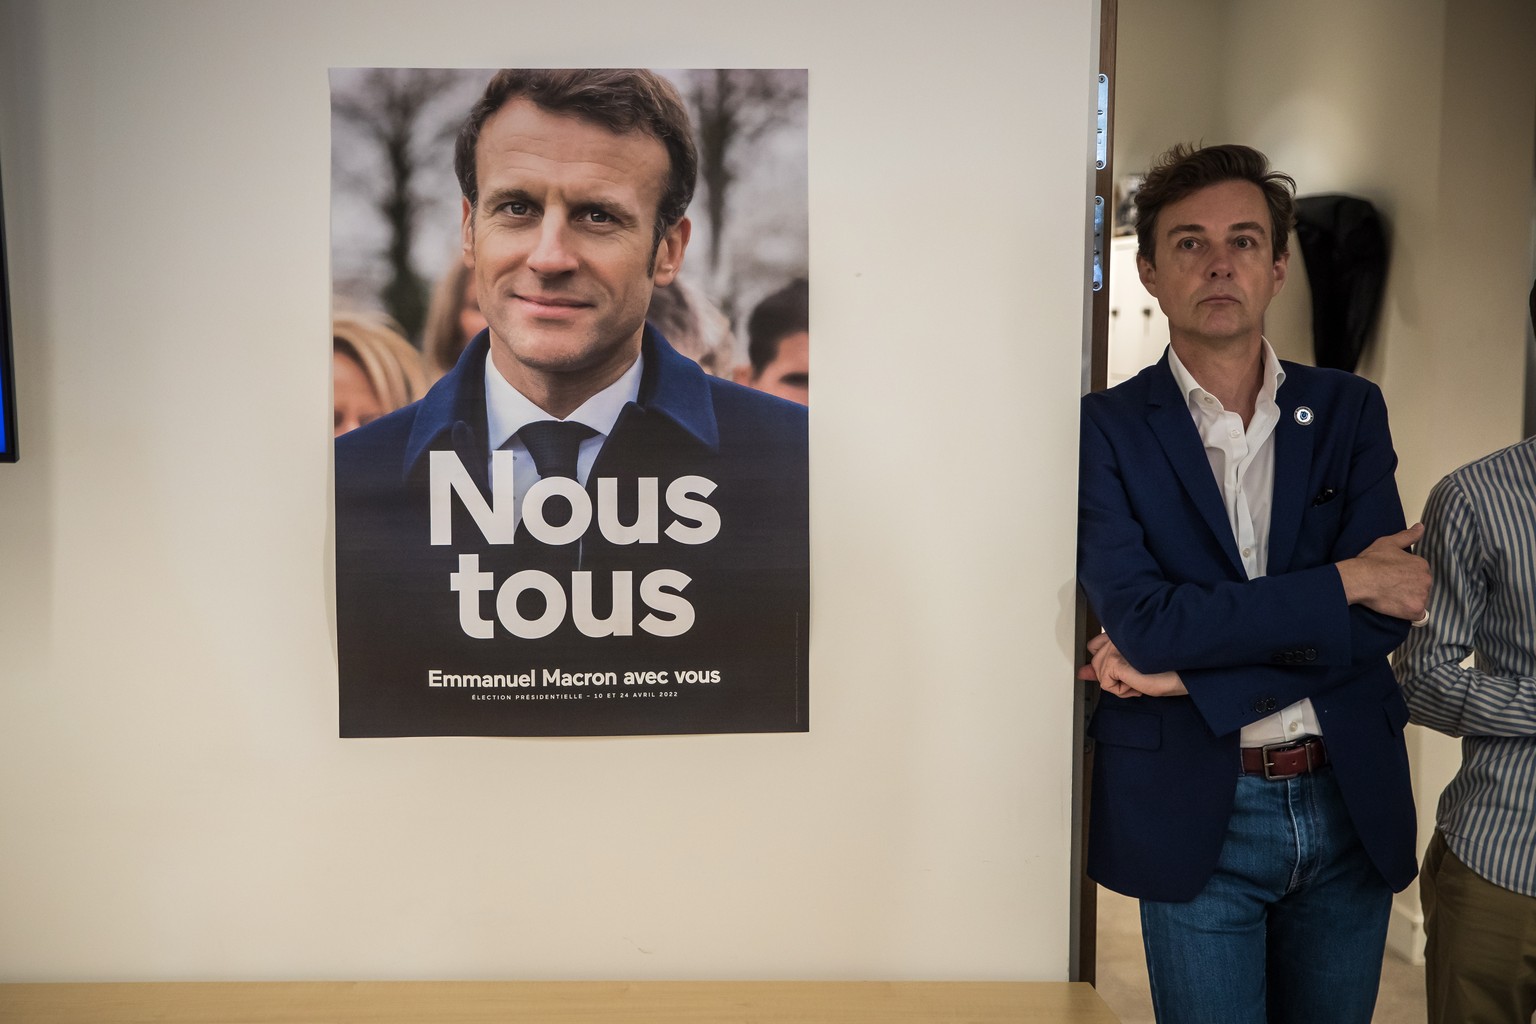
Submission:
POLYGON ((1332 769, 1243 775, 1200 895, 1141 901, 1158 1024, 1370 1024, 1390 910, 1332 769))

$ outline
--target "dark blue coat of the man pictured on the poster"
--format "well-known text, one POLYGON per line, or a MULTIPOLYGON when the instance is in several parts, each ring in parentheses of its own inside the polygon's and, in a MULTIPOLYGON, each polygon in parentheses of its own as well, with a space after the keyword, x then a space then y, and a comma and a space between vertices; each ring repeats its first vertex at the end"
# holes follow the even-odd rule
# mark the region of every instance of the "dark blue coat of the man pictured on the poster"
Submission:
POLYGON ((487 348, 482 332, 419 402, 336 439, 341 735, 806 729, 805 407, 705 375, 647 327, 639 401, 598 453, 578 542, 525 525, 487 539, 441 479, 433 537, 433 465, 449 459, 433 453, 495 507, 487 348), (599 522, 647 508, 650 537, 599 522), (547 611, 524 577, 508 585, 530 568, 567 608, 518 636, 547 611))

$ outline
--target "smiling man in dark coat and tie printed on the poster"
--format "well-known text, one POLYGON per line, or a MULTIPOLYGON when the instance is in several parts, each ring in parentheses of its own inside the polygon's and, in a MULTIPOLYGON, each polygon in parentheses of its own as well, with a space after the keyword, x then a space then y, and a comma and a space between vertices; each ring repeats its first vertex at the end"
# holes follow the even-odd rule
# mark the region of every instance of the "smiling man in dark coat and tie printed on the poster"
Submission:
POLYGON ((490 325, 336 441, 343 735, 806 728, 805 410, 645 324, 694 167, 645 71, 502 71, 470 112, 490 325))

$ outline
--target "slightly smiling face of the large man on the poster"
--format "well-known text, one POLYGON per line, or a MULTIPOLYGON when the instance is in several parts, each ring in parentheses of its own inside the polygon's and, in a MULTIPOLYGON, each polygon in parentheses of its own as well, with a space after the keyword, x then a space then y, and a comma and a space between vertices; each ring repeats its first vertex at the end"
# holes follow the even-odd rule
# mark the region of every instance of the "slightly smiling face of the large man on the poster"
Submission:
POLYGON ((682 266, 688 221, 654 250, 667 147, 641 132, 548 114, 516 98, 485 121, 479 203, 464 201, 464 259, 490 324, 492 359, 556 416, 634 362, 651 289, 682 266))

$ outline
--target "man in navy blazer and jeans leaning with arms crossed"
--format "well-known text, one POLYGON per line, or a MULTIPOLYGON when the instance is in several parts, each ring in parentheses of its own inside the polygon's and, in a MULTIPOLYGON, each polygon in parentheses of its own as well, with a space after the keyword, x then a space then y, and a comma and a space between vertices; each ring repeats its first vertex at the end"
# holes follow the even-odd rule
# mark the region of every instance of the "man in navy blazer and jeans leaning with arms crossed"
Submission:
POLYGON ((1246 146, 1163 155, 1137 266, 1170 345, 1083 399, 1087 866, 1141 900, 1163 1024, 1366 1024, 1415 870, 1387 654, 1428 573, 1381 393, 1263 336, 1293 187, 1246 146))

